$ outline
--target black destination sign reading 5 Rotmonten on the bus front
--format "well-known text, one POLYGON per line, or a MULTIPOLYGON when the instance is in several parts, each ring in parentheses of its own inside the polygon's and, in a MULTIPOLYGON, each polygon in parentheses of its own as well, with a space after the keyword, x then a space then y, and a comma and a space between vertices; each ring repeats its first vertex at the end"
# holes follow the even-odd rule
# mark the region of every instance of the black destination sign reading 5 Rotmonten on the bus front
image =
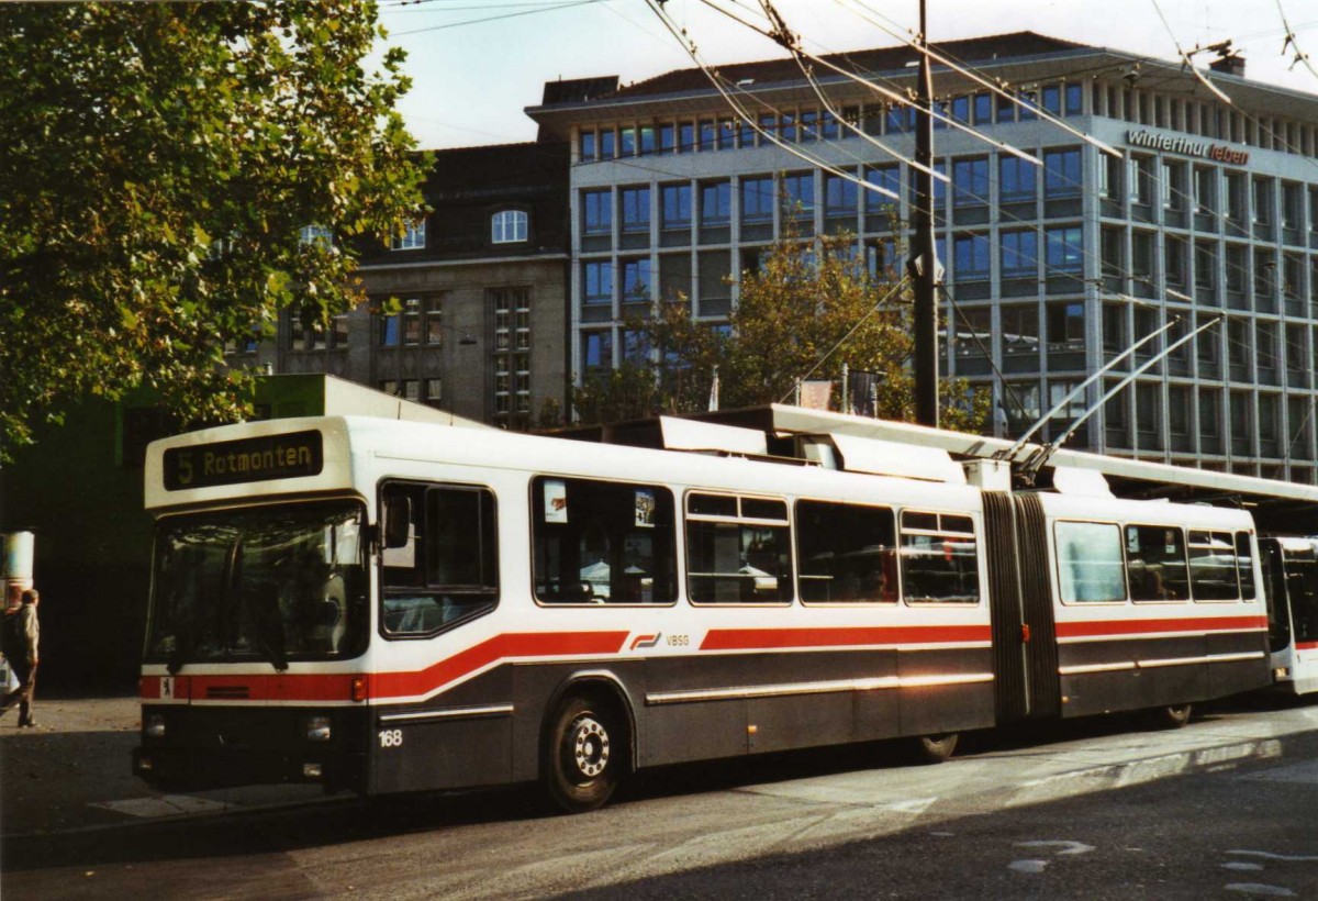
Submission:
POLYGON ((165 489, 298 479, 320 475, 323 467, 324 446, 319 431, 170 447, 165 451, 165 489))

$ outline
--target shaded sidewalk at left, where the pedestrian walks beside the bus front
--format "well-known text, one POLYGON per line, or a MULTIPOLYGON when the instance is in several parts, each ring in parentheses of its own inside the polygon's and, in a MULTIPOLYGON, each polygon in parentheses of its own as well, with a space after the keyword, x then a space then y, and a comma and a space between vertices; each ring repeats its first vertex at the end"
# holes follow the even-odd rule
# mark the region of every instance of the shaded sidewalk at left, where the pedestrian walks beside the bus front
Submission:
POLYGON ((326 795, 314 785, 274 785, 165 795, 132 774, 141 718, 136 697, 37 697, 36 730, 0 719, 0 834, 33 835, 112 827, 146 818, 301 803, 326 795))

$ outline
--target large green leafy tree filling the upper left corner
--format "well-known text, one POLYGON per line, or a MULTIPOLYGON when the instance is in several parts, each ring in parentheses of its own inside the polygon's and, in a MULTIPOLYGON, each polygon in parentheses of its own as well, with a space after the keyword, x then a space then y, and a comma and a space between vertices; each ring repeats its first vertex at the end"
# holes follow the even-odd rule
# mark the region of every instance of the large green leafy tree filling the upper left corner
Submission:
POLYGON ((366 0, 0 4, 0 459, 87 394, 233 418, 225 343, 361 299, 353 243, 422 211, 378 33, 366 0))

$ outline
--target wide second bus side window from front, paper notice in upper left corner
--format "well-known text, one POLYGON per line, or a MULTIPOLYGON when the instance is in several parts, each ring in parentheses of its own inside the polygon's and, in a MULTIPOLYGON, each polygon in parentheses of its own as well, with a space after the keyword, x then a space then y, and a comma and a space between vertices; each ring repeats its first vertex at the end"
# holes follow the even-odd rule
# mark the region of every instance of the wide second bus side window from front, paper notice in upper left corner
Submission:
POLYGON ((672 492, 542 476, 531 483, 535 598, 546 604, 677 599, 672 492))

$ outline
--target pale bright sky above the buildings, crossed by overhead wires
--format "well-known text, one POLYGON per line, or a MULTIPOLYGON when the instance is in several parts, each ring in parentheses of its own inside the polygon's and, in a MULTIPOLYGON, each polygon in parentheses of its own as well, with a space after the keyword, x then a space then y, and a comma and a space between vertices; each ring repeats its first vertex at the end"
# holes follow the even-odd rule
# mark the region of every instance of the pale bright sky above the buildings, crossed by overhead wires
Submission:
MULTIPOLYGON (((763 21, 758 0, 717 0, 763 21)), ((919 25, 919 0, 778 0, 805 49, 838 53, 899 41, 919 25)), ((1314 0, 928 0, 929 38, 950 41, 1032 30, 1137 55, 1177 59, 1177 45, 1231 40, 1253 80, 1318 94, 1314 0), (1166 24, 1164 25, 1164 18, 1166 24), (1296 45, 1282 45, 1286 26, 1296 45)), ((786 58, 760 34, 704 0, 667 0, 670 16, 713 65, 786 58)), ((692 67, 646 0, 380 0, 387 44, 407 50, 413 90, 401 111, 419 146, 444 149, 535 140, 523 109, 544 82, 618 75, 623 84, 692 67)), ((1213 58, 1206 54, 1206 62, 1213 58)))

